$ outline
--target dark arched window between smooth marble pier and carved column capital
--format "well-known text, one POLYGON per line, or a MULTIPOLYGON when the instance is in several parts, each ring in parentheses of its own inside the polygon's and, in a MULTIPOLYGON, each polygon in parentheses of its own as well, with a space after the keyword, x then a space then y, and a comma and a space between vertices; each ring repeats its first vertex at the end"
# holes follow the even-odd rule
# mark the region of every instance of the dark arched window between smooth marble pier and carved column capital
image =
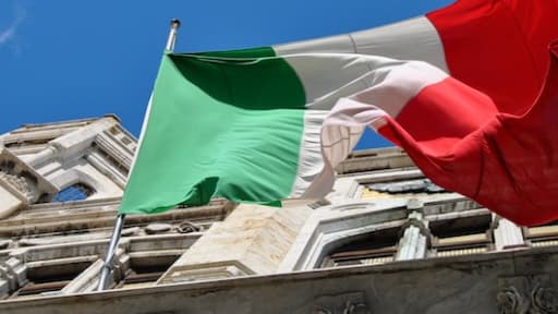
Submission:
POLYGON ((320 267, 376 265, 395 261, 400 228, 390 228, 344 240, 323 259, 320 267))

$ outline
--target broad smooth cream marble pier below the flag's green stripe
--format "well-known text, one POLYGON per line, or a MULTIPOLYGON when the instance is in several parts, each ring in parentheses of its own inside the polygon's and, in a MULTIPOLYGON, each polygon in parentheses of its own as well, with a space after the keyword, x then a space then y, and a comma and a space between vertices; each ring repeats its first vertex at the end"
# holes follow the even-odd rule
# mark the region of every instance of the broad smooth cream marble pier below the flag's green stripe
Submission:
POLYGON ((312 209, 239 205, 161 277, 159 283, 277 271, 312 209))

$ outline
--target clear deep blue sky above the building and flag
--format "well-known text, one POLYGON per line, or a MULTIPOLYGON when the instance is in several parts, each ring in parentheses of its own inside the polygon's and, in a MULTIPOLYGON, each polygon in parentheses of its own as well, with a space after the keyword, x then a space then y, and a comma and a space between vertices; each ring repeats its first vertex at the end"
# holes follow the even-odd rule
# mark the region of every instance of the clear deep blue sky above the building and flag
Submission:
MULTIPOLYGON (((452 0, 0 0, 0 133, 116 113, 136 136, 169 31, 175 51, 269 46, 401 21, 452 0)), ((369 132, 360 144, 388 146, 369 132)))

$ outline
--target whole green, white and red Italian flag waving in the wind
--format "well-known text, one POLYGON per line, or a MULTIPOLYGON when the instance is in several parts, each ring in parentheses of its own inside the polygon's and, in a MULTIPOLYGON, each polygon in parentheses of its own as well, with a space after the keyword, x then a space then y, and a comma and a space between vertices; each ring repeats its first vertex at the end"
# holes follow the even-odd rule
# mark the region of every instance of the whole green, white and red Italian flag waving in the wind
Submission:
POLYGON ((557 219, 556 12, 462 0, 352 34, 167 52, 120 213, 324 197, 371 126, 446 189, 518 224, 557 219))

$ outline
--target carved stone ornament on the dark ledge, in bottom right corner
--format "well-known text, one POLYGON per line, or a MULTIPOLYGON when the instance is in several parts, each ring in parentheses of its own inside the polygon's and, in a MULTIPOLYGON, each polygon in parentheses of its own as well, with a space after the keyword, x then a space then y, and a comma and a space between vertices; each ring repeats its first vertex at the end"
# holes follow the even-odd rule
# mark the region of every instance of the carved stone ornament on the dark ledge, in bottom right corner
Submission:
MULTIPOLYGON (((524 280, 525 282, 527 280, 524 280)), ((520 285, 518 285, 520 286, 520 285)), ((537 280, 521 285, 523 289, 509 286, 496 295, 501 314, 554 314, 558 313, 558 293, 553 288, 542 287, 537 280)))

